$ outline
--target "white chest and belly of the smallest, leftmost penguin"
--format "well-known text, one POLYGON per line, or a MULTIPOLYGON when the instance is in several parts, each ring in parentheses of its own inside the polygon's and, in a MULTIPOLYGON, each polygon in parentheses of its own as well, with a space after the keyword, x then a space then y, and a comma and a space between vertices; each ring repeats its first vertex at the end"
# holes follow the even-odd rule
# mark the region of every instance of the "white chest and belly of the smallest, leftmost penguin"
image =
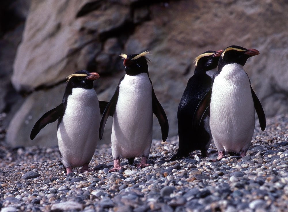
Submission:
POLYGON ((65 167, 89 163, 99 137, 100 109, 94 89, 73 88, 57 138, 65 167))

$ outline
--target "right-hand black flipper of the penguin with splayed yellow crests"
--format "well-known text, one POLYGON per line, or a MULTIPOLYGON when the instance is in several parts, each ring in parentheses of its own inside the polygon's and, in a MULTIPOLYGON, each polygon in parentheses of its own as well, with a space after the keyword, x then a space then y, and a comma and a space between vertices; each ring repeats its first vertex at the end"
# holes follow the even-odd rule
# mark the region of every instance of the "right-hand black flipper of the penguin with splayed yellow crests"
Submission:
POLYGON ((154 89, 152 88, 152 110, 155 116, 157 117, 162 133, 162 140, 166 141, 169 132, 169 124, 166 113, 162 108, 160 102, 158 101, 154 89))

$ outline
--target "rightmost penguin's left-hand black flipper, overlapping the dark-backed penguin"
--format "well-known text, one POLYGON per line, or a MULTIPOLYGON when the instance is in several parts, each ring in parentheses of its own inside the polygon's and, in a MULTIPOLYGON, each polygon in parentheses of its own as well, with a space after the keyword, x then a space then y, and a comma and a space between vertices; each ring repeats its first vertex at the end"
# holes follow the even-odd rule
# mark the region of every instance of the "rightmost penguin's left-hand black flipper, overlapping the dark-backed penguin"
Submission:
POLYGON ((211 89, 207 91, 204 97, 199 102, 193 116, 193 128, 197 129, 204 117, 204 115, 209 116, 209 109, 210 109, 210 101, 211 101, 211 89))

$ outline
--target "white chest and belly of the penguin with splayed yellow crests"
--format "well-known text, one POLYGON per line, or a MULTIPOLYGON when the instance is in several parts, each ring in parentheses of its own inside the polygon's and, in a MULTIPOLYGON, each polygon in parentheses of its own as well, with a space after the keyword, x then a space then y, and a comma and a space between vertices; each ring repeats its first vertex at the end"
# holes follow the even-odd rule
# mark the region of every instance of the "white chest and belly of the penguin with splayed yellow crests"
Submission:
POLYGON ((125 75, 112 126, 113 158, 148 156, 152 142, 152 85, 146 73, 125 75))

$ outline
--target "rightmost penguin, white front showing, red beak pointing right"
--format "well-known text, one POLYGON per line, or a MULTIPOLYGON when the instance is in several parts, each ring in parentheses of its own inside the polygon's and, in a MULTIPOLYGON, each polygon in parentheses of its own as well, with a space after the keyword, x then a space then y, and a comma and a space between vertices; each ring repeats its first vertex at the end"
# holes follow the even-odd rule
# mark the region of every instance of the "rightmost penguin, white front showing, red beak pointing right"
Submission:
MULTIPOLYGON (((217 160, 225 157, 225 152, 240 153, 242 157, 246 155, 255 129, 255 110, 261 130, 266 128, 264 110, 243 69, 247 59, 255 55, 259 55, 256 49, 225 48, 219 59, 218 71, 213 75, 211 92, 203 98, 210 99, 209 123, 218 150, 217 160)), ((199 108, 201 111, 204 106, 199 108)))

